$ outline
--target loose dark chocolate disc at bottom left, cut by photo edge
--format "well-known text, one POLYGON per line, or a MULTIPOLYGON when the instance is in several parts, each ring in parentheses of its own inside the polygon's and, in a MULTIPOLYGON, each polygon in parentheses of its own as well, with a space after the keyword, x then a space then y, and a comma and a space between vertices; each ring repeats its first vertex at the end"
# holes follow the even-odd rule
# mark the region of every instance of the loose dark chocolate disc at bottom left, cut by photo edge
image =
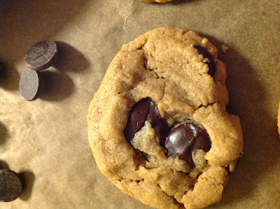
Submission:
POLYGON ((8 169, 0 170, 0 201, 14 201, 22 192, 22 181, 17 173, 8 169))

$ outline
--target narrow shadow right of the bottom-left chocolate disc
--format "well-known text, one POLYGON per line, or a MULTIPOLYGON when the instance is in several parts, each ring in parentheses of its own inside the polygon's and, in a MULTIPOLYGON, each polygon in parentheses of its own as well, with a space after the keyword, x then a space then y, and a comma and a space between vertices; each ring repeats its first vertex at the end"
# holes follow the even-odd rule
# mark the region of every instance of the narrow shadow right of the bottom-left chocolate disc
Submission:
POLYGON ((27 201, 32 193, 35 175, 31 171, 21 171, 18 173, 20 179, 22 180, 22 193, 20 194, 20 199, 27 201))

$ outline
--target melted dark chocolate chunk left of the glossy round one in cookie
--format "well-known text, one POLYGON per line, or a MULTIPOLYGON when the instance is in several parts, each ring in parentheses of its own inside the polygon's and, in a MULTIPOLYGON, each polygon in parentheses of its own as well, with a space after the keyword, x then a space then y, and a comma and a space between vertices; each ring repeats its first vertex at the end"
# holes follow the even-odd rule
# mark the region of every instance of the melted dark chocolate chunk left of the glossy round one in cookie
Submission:
POLYGON ((170 129, 167 122, 160 116, 157 103, 153 99, 147 97, 137 102, 130 110, 130 115, 125 127, 125 138, 131 143, 134 134, 144 127, 145 121, 148 120, 152 124, 153 129, 160 134, 160 145, 164 145, 170 129))

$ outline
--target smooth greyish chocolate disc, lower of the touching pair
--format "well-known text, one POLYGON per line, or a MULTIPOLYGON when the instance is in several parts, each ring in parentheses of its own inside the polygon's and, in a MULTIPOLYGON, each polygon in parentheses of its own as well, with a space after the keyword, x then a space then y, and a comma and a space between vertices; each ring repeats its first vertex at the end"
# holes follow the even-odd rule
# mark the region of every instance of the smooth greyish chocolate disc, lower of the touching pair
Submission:
POLYGON ((43 85, 43 76, 39 72, 27 69, 20 77, 20 94, 25 100, 34 101, 43 91, 43 85))

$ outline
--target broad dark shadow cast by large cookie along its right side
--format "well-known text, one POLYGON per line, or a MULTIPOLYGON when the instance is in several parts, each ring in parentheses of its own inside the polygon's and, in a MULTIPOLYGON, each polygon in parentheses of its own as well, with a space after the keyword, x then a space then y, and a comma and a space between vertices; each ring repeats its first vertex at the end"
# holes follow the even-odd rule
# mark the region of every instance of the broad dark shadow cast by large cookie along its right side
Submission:
MULTIPOLYGON (((223 44, 213 37, 202 36, 209 38, 218 48, 223 44)), ((221 51, 221 48, 218 50, 221 51)), ((276 140, 279 137, 274 130, 276 121, 265 110, 269 100, 265 99, 267 92, 258 78, 258 69, 253 69, 233 45, 229 46, 226 54, 219 52, 218 56, 227 64, 228 106, 230 109, 234 107, 233 112, 241 121, 244 155, 239 159, 235 172, 230 173, 222 200, 211 208, 221 208, 230 202, 248 199, 254 193, 253 190, 257 189, 255 182, 260 182, 263 173, 277 161, 280 148, 276 140)))

